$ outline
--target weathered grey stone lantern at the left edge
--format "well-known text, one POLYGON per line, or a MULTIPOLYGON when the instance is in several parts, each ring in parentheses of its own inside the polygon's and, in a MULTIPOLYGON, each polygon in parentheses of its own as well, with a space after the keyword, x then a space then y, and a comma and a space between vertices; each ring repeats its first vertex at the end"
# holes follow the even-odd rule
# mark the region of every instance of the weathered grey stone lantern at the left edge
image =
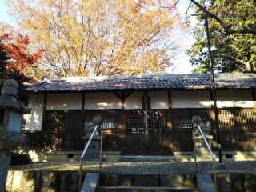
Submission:
POLYGON ((0 96, 0 191, 5 191, 6 176, 10 164, 10 151, 24 142, 22 114, 30 109, 17 100, 18 83, 6 80, 0 96))

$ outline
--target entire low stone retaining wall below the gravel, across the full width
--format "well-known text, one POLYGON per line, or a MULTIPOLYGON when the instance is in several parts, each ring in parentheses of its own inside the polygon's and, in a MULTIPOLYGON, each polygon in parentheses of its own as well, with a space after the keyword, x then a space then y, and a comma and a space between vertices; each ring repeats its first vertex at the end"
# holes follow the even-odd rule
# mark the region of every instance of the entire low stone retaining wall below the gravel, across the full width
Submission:
MULTIPOLYGON (((193 174, 170 175, 103 174, 102 186, 194 186, 193 174), (147 178, 145 179, 145 177, 147 178), (156 178, 157 177, 157 178, 156 178), (132 181, 134 183, 132 183, 132 181), (146 182, 146 183, 145 183, 146 182)), ((250 173, 218 174, 218 191, 233 192, 256 190, 256 175, 250 173)), ((78 172, 9 171, 6 192, 77 192, 78 172)))

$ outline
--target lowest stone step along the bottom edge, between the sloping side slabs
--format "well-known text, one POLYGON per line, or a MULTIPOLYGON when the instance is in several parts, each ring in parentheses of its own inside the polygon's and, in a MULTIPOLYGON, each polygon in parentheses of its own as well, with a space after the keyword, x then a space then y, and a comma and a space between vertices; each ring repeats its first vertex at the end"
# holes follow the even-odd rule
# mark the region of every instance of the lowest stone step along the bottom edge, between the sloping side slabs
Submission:
POLYGON ((97 192, 164 192, 164 191, 197 191, 195 187, 166 187, 166 186, 98 186, 97 192))

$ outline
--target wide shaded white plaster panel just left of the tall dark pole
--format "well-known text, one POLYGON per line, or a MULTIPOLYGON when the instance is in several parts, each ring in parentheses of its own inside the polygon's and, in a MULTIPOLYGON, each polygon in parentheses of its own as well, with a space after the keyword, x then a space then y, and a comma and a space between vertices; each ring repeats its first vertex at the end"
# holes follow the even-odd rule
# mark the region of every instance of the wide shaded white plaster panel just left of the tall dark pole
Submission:
POLYGON ((172 90, 172 108, 210 108, 210 90, 172 90))

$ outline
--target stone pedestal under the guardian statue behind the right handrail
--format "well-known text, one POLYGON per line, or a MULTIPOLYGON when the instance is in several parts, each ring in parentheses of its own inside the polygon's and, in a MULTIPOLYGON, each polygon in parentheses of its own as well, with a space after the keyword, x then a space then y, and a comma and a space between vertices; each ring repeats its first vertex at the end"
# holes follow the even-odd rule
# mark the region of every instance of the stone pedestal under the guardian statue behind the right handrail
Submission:
MULTIPOLYGON (((214 137, 210 134, 206 135, 206 139, 209 142, 209 145, 210 145, 211 140, 213 140, 213 138, 214 137)), ((209 150, 207 149, 206 143, 204 142, 201 135, 196 135, 194 137, 194 142, 195 142, 195 152, 197 155, 209 155, 210 154, 209 150)))

